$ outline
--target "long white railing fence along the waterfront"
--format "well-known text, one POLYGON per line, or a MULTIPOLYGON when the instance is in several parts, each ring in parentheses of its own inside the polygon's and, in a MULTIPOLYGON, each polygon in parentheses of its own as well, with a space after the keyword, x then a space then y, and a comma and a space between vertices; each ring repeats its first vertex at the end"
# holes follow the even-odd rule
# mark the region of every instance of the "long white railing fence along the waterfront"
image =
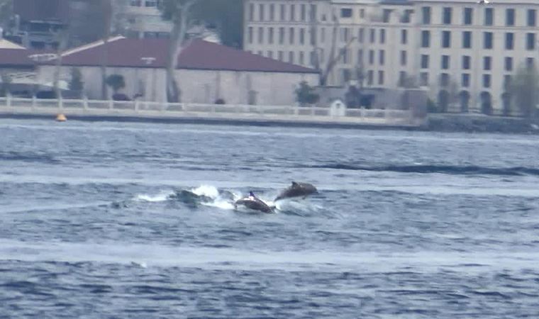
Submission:
POLYGON ((125 116, 197 116, 218 118, 274 118, 302 121, 372 122, 419 125, 409 110, 385 110, 304 106, 259 106, 243 104, 160 103, 150 101, 100 101, 89 99, 0 98, 0 111, 10 113, 67 113, 125 116))

